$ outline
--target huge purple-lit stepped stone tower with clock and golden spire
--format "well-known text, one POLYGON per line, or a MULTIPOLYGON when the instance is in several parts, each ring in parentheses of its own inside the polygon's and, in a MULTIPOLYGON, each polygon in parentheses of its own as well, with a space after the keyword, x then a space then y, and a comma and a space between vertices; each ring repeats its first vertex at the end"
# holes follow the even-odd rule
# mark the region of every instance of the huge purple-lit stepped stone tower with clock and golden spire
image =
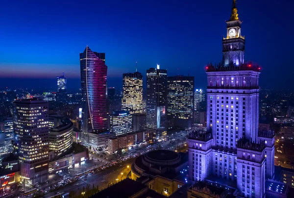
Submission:
POLYGON ((244 62, 236 0, 226 24, 222 64, 206 67, 207 131, 193 131, 188 140, 189 178, 235 186, 238 197, 264 198, 266 178, 274 175, 274 136, 258 134, 260 68, 244 62))

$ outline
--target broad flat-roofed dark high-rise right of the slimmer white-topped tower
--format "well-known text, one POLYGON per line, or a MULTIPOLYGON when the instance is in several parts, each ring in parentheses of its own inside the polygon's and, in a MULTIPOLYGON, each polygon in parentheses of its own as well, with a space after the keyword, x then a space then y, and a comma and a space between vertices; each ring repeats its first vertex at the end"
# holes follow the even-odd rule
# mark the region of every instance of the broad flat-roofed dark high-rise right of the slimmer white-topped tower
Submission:
POLYGON ((174 118, 174 127, 191 129, 194 122, 194 76, 169 76, 167 99, 167 116, 174 118))

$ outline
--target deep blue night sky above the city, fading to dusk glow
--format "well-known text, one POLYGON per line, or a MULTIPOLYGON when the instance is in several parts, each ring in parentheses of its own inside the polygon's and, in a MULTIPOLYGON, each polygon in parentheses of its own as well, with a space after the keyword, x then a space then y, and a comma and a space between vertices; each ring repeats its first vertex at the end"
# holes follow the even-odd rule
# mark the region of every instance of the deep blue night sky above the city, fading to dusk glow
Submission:
MULTIPOLYGON (((106 53, 108 86, 155 67, 195 76, 221 61, 232 0, 14 0, 0 7, 0 86, 55 86, 65 72, 79 88, 79 52, 106 53), (189 69, 190 68, 190 69, 189 69), (52 83, 52 84, 50 84, 52 83)), ((293 89, 292 0, 237 0, 245 60, 262 68, 261 87, 293 89), (271 3, 274 2, 274 3, 271 3), (291 86, 289 86, 291 85, 291 86)), ((72 83, 71 83, 72 82, 72 83)))

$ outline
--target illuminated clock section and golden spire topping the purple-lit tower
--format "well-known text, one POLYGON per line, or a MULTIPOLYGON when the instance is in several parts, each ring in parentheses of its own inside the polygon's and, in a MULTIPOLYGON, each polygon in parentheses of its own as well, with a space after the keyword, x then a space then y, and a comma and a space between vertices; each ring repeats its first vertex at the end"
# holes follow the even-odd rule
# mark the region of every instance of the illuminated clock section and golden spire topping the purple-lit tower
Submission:
POLYGON ((241 35, 241 24, 233 0, 232 14, 227 24, 227 35, 222 39, 222 64, 224 67, 239 67, 244 64, 245 37, 241 35))

